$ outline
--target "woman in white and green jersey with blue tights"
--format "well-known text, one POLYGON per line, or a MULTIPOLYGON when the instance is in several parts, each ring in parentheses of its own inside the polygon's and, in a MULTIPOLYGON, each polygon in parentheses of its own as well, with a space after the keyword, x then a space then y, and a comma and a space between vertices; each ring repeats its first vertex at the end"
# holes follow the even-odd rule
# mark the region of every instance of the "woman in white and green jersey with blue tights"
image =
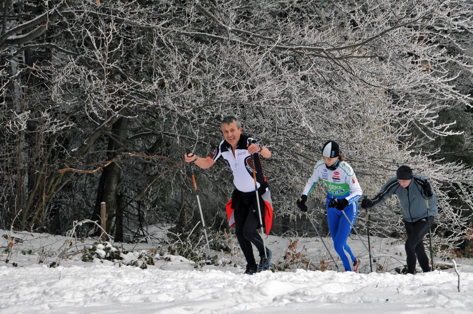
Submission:
POLYGON ((335 250, 343 262, 345 271, 357 272, 360 261, 346 244, 351 232, 351 224, 344 217, 341 210, 354 224, 358 214, 357 200, 362 196, 363 191, 353 169, 347 162, 343 161, 343 155, 339 153, 338 144, 332 140, 324 144, 322 159, 315 165, 313 174, 305 184, 304 192, 297 200, 297 206, 302 211, 307 211, 305 202, 319 179, 322 179, 327 186, 327 220, 335 250), (350 255, 351 260, 347 258, 345 252, 350 255))

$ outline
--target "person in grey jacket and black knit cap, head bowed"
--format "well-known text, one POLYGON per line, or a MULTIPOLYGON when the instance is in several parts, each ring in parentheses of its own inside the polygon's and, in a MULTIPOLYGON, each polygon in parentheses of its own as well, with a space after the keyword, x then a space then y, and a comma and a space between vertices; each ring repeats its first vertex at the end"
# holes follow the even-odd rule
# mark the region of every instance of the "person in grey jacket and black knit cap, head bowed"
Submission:
POLYGON ((413 175, 408 166, 401 166, 396 176, 389 179, 378 194, 372 199, 365 198, 361 207, 364 209, 382 204, 388 197, 396 194, 404 211, 404 225, 407 234, 405 255, 407 273, 414 274, 416 260, 424 273, 430 272, 429 258, 425 253, 423 238, 429 231, 437 214, 437 195, 429 180, 420 175, 413 175), (429 199, 429 211, 427 201, 429 199), (428 221, 429 220, 429 221, 428 221))

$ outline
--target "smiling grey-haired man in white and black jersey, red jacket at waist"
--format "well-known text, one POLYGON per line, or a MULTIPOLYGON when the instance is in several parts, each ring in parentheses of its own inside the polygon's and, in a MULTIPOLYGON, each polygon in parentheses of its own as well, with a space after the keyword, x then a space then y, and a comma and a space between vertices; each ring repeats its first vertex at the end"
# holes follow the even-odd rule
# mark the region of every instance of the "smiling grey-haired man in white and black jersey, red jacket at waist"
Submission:
POLYGON ((241 134, 242 128, 236 117, 225 117, 221 126, 224 140, 220 142, 213 153, 205 158, 198 157, 195 154, 185 154, 184 158, 187 163, 194 162, 200 168, 207 169, 222 157, 232 170, 235 190, 232 193, 232 198, 227 203, 227 217, 230 226, 235 225, 236 238, 247 262, 245 273, 252 275, 267 270, 270 266, 271 250, 265 248, 263 239, 257 230, 260 223, 253 178, 253 163, 260 196, 263 225, 266 227, 266 234, 268 235, 272 222, 272 203, 270 188, 263 172, 260 156, 269 158, 271 152, 254 138, 241 134), (256 264, 251 244, 254 244, 258 249, 260 255, 259 265, 256 264))

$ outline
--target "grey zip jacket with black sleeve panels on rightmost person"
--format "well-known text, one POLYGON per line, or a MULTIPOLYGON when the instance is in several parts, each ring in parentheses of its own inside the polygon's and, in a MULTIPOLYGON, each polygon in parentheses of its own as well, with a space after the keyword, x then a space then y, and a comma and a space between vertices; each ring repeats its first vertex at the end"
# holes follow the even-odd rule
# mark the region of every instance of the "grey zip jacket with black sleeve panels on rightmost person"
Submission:
MULTIPOLYGON (((422 218, 426 218, 427 202, 426 196, 422 190, 422 184, 425 180, 427 180, 427 178, 424 176, 414 175, 407 188, 404 188, 399 184, 396 177, 392 177, 383 186, 381 191, 372 198, 374 203, 373 207, 382 204, 388 197, 396 194, 399 203, 401 203, 401 207, 403 208, 405 221, 415 222, 422 218)), ((435 194, 434 189, 432 189, 432 197, 429 197, 430 216, 435 216, 437 214, 437 203, 437 195, 435 194)))

